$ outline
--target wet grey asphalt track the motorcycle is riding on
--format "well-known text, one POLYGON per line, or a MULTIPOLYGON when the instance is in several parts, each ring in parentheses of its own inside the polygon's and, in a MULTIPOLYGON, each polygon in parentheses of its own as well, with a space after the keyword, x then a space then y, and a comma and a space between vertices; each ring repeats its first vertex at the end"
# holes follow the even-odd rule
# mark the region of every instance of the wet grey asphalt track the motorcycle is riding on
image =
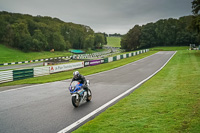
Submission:
MULTIPOLYGON (((71 80, 1 91, 0 132, 56 133, 62 131, 148 78, 158 71, 174 53, 174 51, 158 52, 123 67, 86 76, 86 79, 91 82, 89 88, 93 97, 91 102, 84 103, 78 108, 74 108, 71 103, 71 95, 68 91, 71 80)), ((94 118, 95 115, 88 120, 94 118)))

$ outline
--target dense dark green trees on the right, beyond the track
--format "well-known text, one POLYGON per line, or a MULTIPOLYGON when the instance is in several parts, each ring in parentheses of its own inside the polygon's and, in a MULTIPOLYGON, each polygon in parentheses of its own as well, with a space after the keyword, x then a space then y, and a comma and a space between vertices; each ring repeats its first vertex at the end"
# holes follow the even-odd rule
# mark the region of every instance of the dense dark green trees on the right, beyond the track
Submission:
MULTIPOLYGON (((200 17, 197 16, 200 20, 200 17)), ((126 50, 154 46, 189 46, 199 42, 196 28, 192 27, 194 16, 179 19, 161 19, 155 23, 136 25, 122 37, 121 46, 126 50)), ((200 22, 200 21, 199 21, 200 22)))

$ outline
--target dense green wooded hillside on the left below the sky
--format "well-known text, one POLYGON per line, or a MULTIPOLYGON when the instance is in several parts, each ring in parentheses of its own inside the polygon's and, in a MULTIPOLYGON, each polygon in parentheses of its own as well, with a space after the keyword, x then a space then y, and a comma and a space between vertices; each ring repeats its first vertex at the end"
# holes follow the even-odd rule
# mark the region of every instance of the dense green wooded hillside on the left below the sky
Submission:
POLYGON ((102 33, 58 18, 0 12, 0 43, 23 51, 89 49, 106 43, 102 33))

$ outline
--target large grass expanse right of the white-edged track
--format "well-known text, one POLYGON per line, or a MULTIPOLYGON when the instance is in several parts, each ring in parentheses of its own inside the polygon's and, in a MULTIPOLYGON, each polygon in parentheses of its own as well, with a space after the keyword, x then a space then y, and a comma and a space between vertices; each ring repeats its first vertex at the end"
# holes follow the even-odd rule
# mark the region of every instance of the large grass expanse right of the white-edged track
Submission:
POLYGON ((158 74, 74 133, 199 133, 199 77, 200 51, 179 50, 158 74))

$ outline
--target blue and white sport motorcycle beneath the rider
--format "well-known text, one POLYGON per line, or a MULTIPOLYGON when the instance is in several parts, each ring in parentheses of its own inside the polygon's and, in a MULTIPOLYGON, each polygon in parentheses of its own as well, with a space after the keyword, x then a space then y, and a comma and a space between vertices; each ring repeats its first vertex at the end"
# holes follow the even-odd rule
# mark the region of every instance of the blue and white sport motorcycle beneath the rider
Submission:
MULTIPOLYGON (((90 85, 90 81, 87 80, 87 87, 90 85)), ((88 88, 87 91, 83 89, 83 84, 78 81, 73 81, 69 86, 69 91, 72 95, 72 104, 74 107, 78 107, 83 102, 89 102, 92 99, 92 92, 88 88)))

